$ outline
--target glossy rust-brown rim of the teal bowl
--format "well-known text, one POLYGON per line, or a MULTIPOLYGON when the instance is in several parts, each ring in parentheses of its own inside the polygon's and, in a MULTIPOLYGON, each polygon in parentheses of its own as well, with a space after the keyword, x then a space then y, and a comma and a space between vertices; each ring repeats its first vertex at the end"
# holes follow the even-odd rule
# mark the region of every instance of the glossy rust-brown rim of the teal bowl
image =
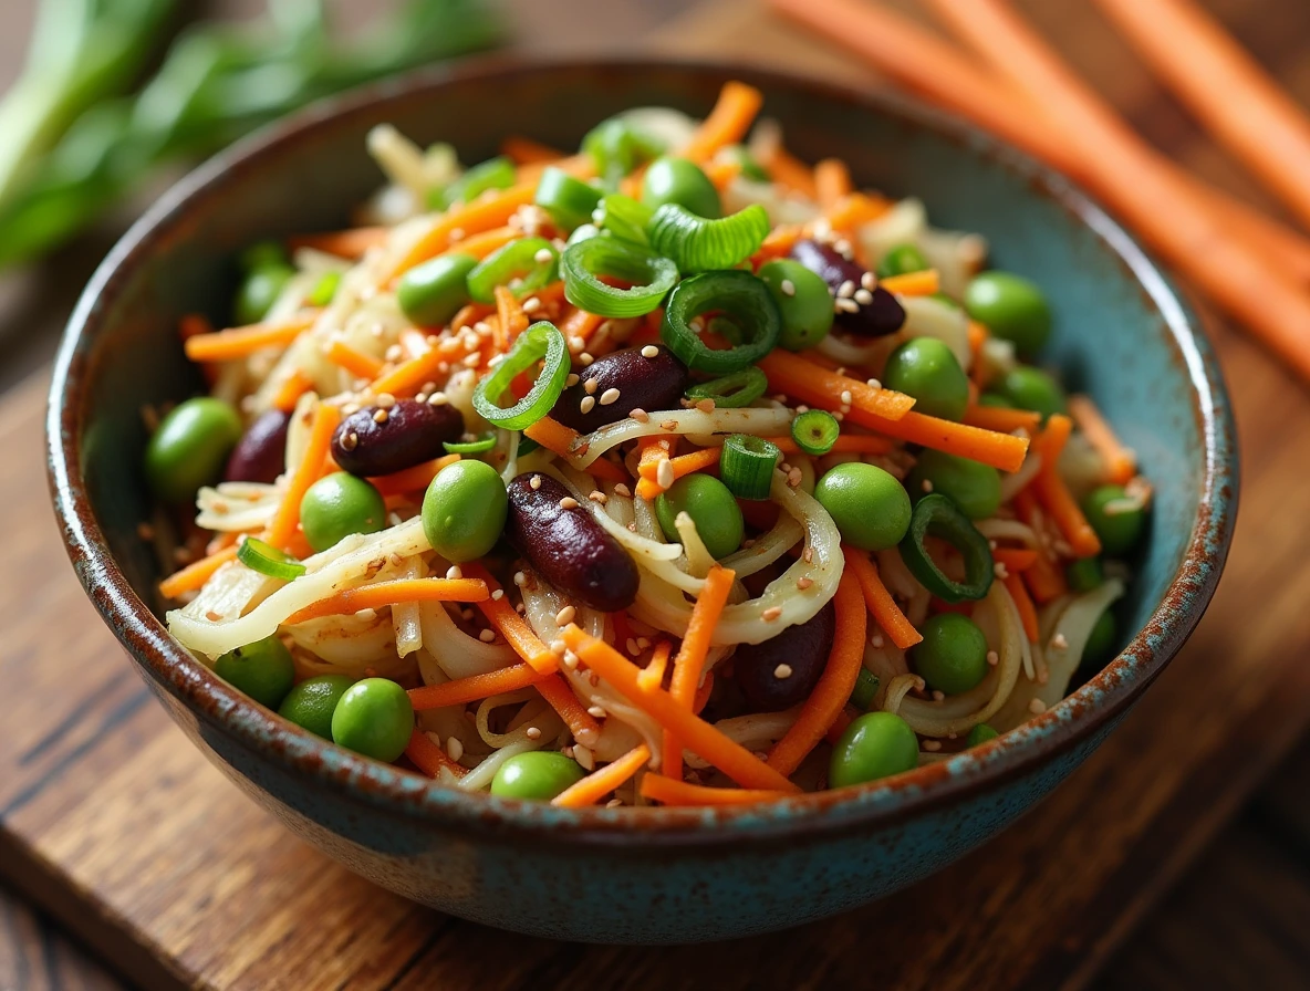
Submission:
POLYGON ((46 418, 47 473, 69 559, 102 619, 143 673, 252 754, 341 796, 418 820, 436 829, 473 826, 486 835, 566 843, 715 846, 752 839, 785 840, 796 833, 867 830, 938 809, 1027 775, 1117 717, 1178 652, 1200 621, 1218 583, 1237 513, 1237 448, 1233 414, 1213 348, 1191 308, 1142 247, 1072 181, 1023 152, 951 115, 914 101, 870 93, 807 76, 701 59, 545 58, 493 55, 423 69, 321 101, 275 122, 208 160, 164 194, 101 263, 69 319, 55 360, 46 418), (81 475, 80 397, 90 376, 86 357, 109 304, 164 233, 185 223, 193 202, 223 195, 227 182, 258 169, 279 148, 329 132, 348 119, 385 119, 392 102, 435 98, 455 86, 552 73, 685 72, 723 81, 743 79, 765 88, 889 117, 926 128, 1018 174, 1034 195, 1055 202, 1116 254, 1158 310, 1166 343, 1189 380, 1189 401, 1204 440, 1197 514, 1187 549, 1163 598, 1123 653, 1076 693, 1001 737, 947 761, 882 782, 804 793, 769 805, 714 809, 558 809, 439 785, 392 765, 352 754, 312 736, 214 676, 166 632, 136 596, 110 554, 81 475))

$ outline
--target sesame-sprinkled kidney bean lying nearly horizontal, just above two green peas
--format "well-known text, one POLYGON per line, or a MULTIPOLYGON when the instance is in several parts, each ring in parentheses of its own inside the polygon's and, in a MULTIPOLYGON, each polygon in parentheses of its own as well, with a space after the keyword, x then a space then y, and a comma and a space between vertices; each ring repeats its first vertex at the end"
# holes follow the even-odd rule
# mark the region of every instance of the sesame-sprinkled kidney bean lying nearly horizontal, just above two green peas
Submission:
POLYGON ((343 419, 331 456, 350 474, 376 478, 439 458, 441 445, 462 435, 464 418, 455 407, 397 399, 385 410, 367 406, 343 419))

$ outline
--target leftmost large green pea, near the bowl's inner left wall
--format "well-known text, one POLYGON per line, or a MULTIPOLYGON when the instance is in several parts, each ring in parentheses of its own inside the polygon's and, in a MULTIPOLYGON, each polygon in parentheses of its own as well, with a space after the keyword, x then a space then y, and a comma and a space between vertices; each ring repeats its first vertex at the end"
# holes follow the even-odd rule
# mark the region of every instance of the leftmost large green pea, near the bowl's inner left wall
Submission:
POLYGON ((145 478, 166 503, 195 499, 200 486, 217 482, 241 440, 241 418, 207 395, 174 406, 145 445, 145 478))

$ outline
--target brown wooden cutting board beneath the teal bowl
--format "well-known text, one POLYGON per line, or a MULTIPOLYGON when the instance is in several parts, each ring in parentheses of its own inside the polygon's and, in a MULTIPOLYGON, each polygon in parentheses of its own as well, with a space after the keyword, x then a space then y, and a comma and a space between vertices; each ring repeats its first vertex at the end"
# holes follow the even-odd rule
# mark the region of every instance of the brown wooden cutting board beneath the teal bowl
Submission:
MULTIPOLYGON (((664 37, 863 77, 749 3, 664 37)), ((149 700, 75 581, 31 381, 0 412, 0 873, 147 988, 1081 987, 1310 723, 1310 402, 1212 326, 1242 433, 1238 542, 1200 630, 1110 742, 1014 829, 893 898, 654 950, 417 907, 241 796, 149 700)))

